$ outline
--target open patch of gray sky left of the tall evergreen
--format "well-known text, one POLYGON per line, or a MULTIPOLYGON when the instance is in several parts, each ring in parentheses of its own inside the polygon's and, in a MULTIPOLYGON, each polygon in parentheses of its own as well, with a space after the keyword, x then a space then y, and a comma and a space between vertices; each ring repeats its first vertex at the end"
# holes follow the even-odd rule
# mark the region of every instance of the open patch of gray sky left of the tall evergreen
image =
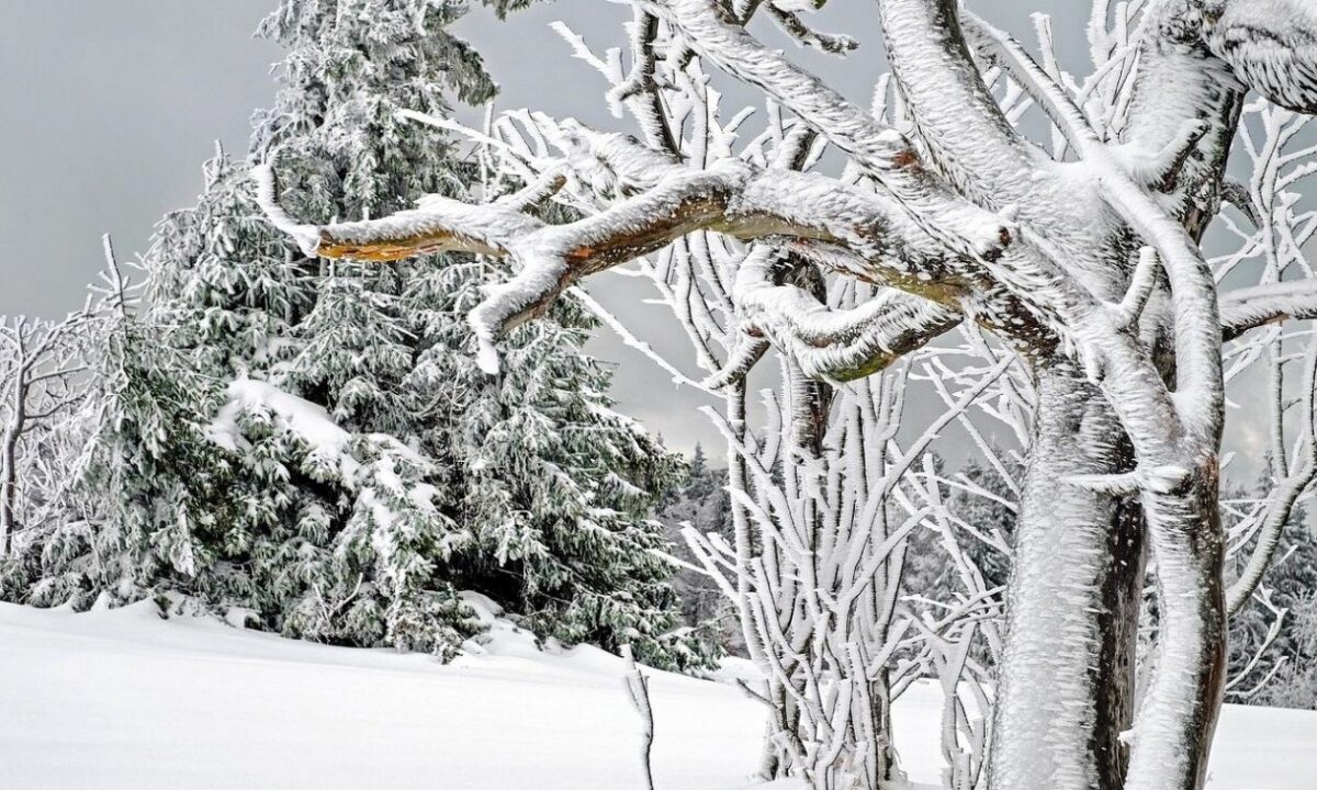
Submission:
POLYGON ((126 255, 246 149, 278 47, 270 0, 0 0, 0 313, 78 307, 100 234, 126 255))

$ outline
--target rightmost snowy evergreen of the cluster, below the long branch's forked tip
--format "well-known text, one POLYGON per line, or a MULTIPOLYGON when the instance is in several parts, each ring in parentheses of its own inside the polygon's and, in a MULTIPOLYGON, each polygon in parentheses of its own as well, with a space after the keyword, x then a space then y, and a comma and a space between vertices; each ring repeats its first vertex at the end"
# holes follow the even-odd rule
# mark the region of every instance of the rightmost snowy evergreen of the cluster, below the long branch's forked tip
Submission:
POLYGON ((454 561, 464 586, 527 616, 539 633, 608 648, 628 643, 651 665, 703 661, 681 628, 662 528, 647 520, 676 460, 611 409, 611 374, 577 349, 590 327, 569 305, 558 321, 512 340, 516 366, 486 382, 474 342, 433 346, 461 384, 433 382, 444 411, 425 448, 456 456, 460 519, 471 549, 454 561), (569 323, 570 321, 570 323, 569 323))

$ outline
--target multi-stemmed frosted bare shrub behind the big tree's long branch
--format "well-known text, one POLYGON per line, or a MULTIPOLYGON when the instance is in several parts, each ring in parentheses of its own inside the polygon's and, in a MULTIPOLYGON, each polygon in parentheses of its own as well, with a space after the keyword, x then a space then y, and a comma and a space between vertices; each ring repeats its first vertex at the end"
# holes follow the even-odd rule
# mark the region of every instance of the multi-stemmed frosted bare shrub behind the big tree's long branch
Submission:
MULTIPOLYGON (((644 34, 645 18, 635 24, 641 33, 632 40, 639 66, 649 40, 644 34)), ((597 57, 565 25, 554 26, 578 57, 607 79, 610 99, 628 95, 635 71, 623 71, 611 53, 597 57)), ((648 36, 656 30, 651 26, 648 36)), ((660 150, 684 151, 703 162, 738 155, 772 158, 793 169, 810 167, 822 153, 815 134, 784 124, 782 116, 772 112, 768 128, 744 150, 734 151, 730 144, 747 112, 723 120, 720 96, 707 84, 698 61, 676 72, 674 79, 681 83, 680 104, 653 105, 633 96, 623 101, 641 128, 655 128, 647 118, 657 117, 662 121, 657 128, 684 129, 651 136, 651 144, 660 150), (699 121, 686 126, 687 117, 699 121)), ((486 195, 520 201, 544 186, 557 188, 564 176, 562 163, 552 155, 548 142, 561 140, 564 129, 543 116, 511 113, 491 121, 485 132, 444 118, 412 117, 482 142, 481 161, 486 172, 494 174, 485 184, 486 195), (532 186, 520 194, 510 192, 510 184, 502 180, 532 186)), ((572 191, 558 196, 569 204, 581 201, 582 212, 598 211, 606 203, 572 191)), ((927 432, 902 454, 892 440, 901 425, 903 379, 882 382, 873 391, 860 383, 853 391, 835 392, 835 386, 811 381, 798 367, 805 363, 817 371, 819 366, 835 369, 844 358, 852 359, 849 365, 885 359, 889 352, 873 345, 881 337, 856 338, 843 357, 831 349, 811 352, 807 340, 797 341, 790 362, 782 361, 781 392, 764 392, 766 421, 752 424, 747 377, 765 359, 769 344, 743 330, 744 312, 753 309, 757 300, 811 309, 818 299, 852 307, 856 299, 853 280, 839 280, 824 294, 811 263, 770 253, 764 248, 748 259, 744 250, 695 233, 637 259, 637 269, 630 273, 648 279, 672 309, 702 378, 691 378, 680 365, 656 354, 589 294, 574 290, 573 296, 677 382, 722 395, 722 408, 707 412, 727 440, 734 541, 728 545, 720 536, 693 531, 686 536, 706 575, 735 607, 744 644, 766 678, 763 689, 751 691, 770 710, 761 776, 803 774, 819 787, 859 782, 876 789, 894 766, 890 706, 896 694, 885 664, 905 631, 892 629, 894 603, 906 536, 921 517, 911 512, 903 524, 892 524, 889 495, 935 432, 927 432), (734 291, 739 294, 736 300, 734 291), (835 446, 838 442, 842 446, 835 446), (871 457, 868 442, 890 445, 896 457, 886 452, 884 458, 871 457), (901 469, 888 474, 893 466, 901 469), (884 475, 881 490, 865 490, 884 475)), ((872 294, 864 291, 864 296, 872 294)), ((968 408, 972 399, 964 399, 959 411, 968 408)), ((922 662, 907 665, 902 677, 913 679, 922 668, 922 662)))

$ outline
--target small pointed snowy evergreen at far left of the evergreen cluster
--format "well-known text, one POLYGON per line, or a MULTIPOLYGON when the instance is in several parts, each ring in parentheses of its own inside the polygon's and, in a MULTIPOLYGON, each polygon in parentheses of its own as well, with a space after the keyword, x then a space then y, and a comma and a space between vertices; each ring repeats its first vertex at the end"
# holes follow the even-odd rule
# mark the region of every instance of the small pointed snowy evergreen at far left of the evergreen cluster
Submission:
POLYGON ((82 349, 86 391, 45 453, 61 483, 22 542, 28 582, 8 598, 38 606, 134 600, 213 561, 230 467, 204 438, 208 379, 136 312, 138 290, 111 255, 82 349))

